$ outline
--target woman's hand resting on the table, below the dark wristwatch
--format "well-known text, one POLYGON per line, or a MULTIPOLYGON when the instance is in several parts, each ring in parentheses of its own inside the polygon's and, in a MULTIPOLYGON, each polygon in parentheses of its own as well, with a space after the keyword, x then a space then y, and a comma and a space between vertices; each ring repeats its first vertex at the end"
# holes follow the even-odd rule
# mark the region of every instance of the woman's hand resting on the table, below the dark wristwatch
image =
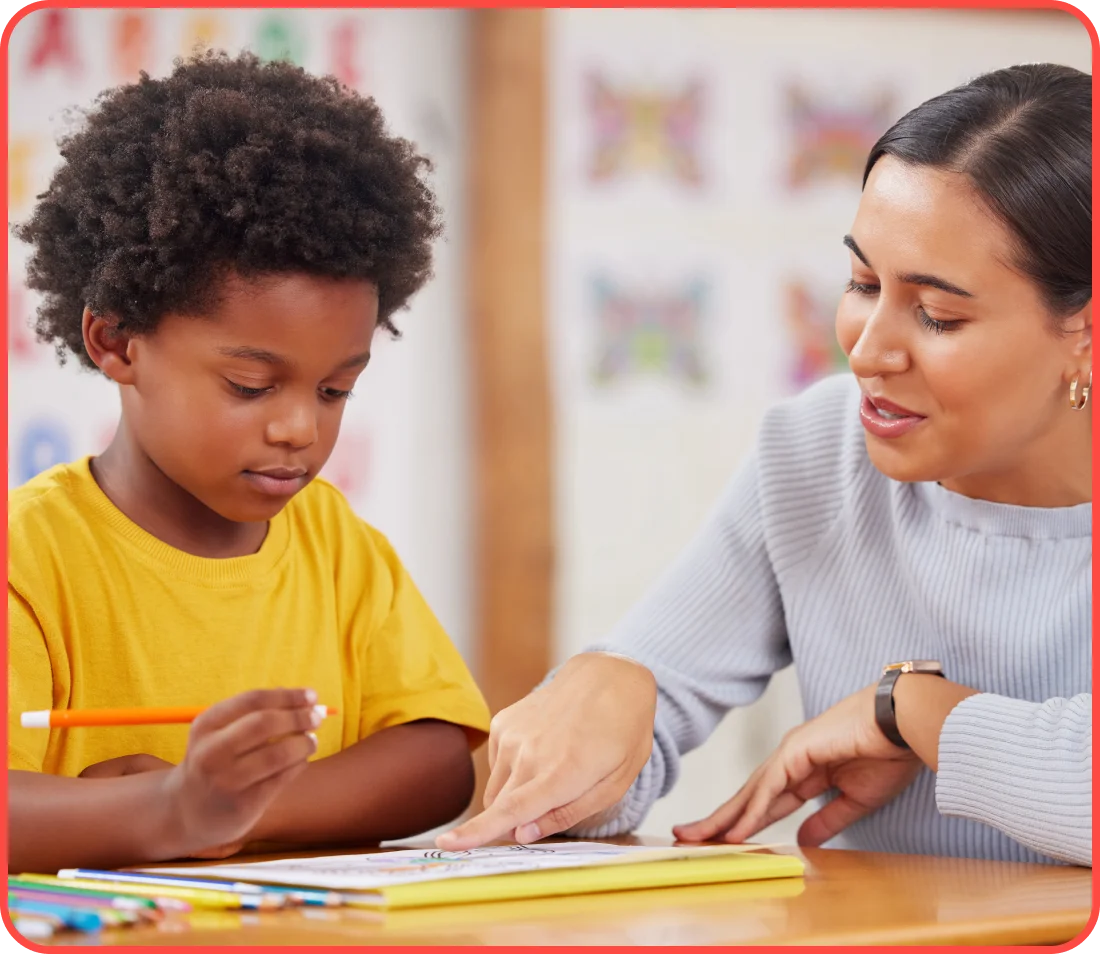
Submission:
POLYGON ((862 689, 789 732, 737 794, 708 818, 673 829, 675 836, 739 844, 835 789, 837 797, 799 829, 799 844, 816 846, 901 793, 922 763, 878 727, 875 690, 862 689))

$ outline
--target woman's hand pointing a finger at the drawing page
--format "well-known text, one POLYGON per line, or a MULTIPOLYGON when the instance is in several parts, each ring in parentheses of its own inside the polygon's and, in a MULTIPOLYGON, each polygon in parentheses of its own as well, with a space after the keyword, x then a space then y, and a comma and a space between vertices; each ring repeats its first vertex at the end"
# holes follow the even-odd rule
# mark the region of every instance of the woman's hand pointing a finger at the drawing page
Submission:
POLYGON ((656 710, 657 682, 640 664, 574 656, 493 719, 485 810, 437 844, 462 851, 501 837, 535 842, 614 805, 649 759, 656 710))

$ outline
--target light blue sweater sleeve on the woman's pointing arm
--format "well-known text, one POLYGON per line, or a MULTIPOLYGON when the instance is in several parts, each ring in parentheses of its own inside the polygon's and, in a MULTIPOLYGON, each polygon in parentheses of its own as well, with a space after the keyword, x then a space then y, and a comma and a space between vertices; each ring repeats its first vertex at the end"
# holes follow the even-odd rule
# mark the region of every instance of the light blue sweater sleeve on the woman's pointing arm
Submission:
POLYGON ((609 637, 590 647, 653 673, 653 750, 622 801, 570 834, 636 829, 672 790, 680 759, 790 665, 780 581, 813 551, 846 497, 855 457, 843 421, 858 396, 850 379, 826 379, 769 410, 694 540, 609 637))

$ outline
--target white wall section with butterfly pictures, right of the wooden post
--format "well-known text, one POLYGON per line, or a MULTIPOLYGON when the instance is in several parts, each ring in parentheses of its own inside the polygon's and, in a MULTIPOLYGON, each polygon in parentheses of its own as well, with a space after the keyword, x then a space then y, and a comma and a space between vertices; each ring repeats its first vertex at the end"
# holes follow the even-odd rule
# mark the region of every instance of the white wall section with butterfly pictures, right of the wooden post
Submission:
MULTIPOLYGON (((688 542, 763 410, 845 368, 840 239, 878 135, 987 69, 1088 70, 1091 46, 1064 13, 886 10, 561 10, 549 42, 560 660, 688 542)), ((800 720, 789 670, 642 831, 710 813, 800 720)))

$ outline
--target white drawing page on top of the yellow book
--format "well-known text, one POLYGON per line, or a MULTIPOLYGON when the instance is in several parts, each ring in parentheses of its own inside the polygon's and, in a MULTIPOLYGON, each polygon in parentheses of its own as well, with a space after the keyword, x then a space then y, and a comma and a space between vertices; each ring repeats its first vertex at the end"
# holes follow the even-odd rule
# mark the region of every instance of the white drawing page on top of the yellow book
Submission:
POLYGON ((651 848, 645 845, 605 845, 594 842, 561 842, 536 845, 503 845, 466 852, 411 848, 364 855, 331 855, 253 862, 244 865, 210 865, 204 868, 146 868, 154 874, 266 881, 274 885, 366 891, 393 885, 474 878, 549 868, 585 867, 624 862, 682 858, 700 853, 745 851, 750 846, 651 848))

